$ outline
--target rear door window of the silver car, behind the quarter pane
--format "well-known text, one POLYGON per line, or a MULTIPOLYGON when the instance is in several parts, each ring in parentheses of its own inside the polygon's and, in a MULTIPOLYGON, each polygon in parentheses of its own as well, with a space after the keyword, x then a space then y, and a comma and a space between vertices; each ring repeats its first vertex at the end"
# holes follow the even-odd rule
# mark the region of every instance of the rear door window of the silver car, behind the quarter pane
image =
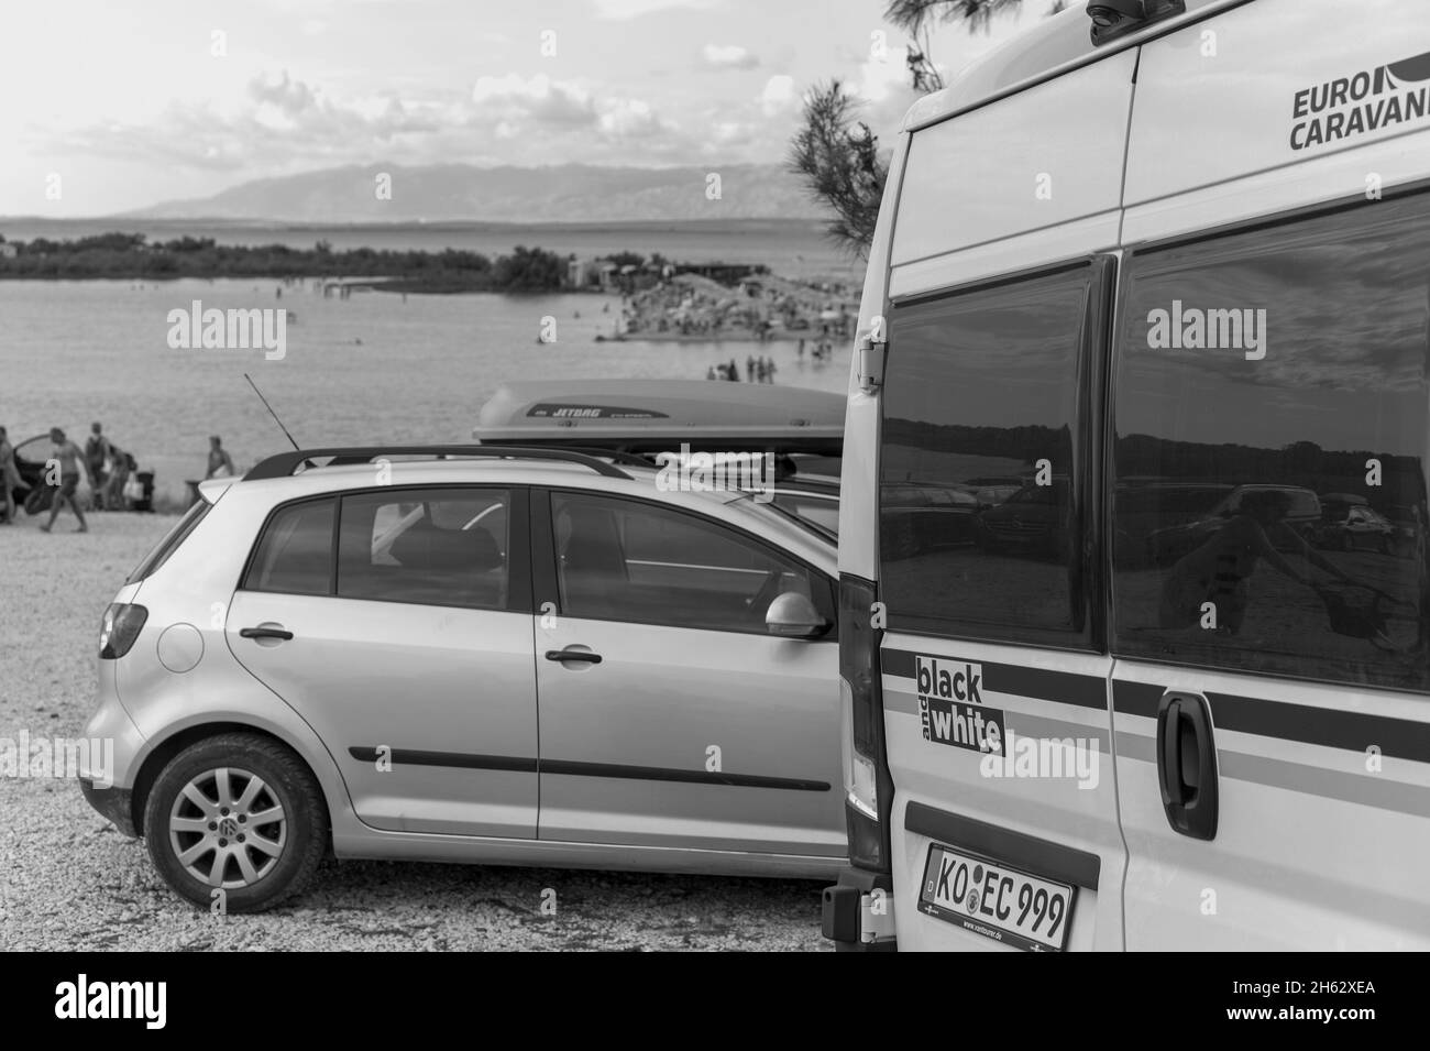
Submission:
POLYGON ((503 609, 505 489, 429 489, 343 498, 337 595, 503 609))

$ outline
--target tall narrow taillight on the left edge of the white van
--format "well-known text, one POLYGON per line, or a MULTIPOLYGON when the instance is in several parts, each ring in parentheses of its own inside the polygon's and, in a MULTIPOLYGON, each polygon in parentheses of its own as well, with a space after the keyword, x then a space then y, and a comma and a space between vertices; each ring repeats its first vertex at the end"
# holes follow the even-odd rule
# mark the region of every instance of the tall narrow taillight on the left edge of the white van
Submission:
POLYGON ((845 714, 844 814, 849 862, 887 872, 887 815, 894 784, 884 755, 882 628, 874 626, 874 602, 872 583, 857 576, 839 578, 839 698, 845 714))

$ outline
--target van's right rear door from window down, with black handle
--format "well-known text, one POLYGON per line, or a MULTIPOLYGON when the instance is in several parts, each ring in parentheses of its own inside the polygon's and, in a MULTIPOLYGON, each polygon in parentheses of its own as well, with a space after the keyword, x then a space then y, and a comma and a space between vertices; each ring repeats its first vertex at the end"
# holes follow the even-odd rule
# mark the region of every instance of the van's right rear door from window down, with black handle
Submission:
POLYGON ((1127 948, 1430 948, 1430 193, 1128 257, 1127 948))

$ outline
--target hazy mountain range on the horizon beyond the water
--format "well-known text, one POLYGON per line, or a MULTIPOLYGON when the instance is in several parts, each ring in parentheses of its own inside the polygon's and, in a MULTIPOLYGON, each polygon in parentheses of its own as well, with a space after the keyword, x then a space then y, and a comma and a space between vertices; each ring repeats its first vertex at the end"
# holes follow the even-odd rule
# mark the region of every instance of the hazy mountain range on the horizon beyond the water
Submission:
POLYGON ((827 213, 811 200, 798 177, 779 164, 708 169, 369 164, 257 179, 212 197, 166 202, 124 217, 532 223, 824 219, 827 213))

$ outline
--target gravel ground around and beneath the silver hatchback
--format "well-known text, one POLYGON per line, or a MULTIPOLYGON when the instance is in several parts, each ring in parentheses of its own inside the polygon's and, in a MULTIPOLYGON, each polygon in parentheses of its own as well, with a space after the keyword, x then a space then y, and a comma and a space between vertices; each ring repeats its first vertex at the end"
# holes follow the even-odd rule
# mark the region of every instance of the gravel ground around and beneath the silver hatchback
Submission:
MULTIPOLYGON (((92 515, 76 536, 0 526, 0 736, 77 736, 93 706, 104 605, 174 519, 92 515)), ((0 949, 821 951, 818 882, 326 862, 257 917, 172 895, 143 844, 72 781, 0 781, 0 949), (555 914, 545 894, 555 891, 555 914)))

